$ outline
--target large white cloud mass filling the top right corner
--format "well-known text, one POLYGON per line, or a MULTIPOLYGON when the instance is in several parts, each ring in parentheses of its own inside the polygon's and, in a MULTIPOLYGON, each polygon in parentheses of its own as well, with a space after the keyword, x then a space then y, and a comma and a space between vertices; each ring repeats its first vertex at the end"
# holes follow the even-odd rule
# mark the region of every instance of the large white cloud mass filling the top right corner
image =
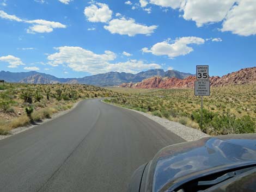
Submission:
POLYGON ((149 3, 179 9, 182 17, 196 22, 197 27, 222 22, 222 32, 256 34, 255 0, 150 0, 149 3))

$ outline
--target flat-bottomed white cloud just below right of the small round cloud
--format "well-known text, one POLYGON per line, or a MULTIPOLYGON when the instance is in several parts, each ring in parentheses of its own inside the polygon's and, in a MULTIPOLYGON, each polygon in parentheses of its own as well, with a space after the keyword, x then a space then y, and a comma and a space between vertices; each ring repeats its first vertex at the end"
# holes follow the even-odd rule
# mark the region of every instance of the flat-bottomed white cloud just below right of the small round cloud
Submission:
POLYGON ((104 26, 106 30, 109 30, 112 34, 135 36, 137 34, 150 35, 154 33, 157 26, 145 26, 144 24, 138 24, 133 18, 116 18, 109 21, 108 26, 104 26))

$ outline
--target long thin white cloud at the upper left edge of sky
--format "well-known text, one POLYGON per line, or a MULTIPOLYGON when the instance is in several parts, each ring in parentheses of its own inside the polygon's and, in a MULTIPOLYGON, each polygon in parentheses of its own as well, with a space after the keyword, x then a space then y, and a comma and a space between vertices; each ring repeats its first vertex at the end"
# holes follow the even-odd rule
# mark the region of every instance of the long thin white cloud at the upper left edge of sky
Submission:
POLYGON ((66 28, 66 26, 64 24, 59 23, 59 22, 54 22, 54 21, 22 20, 21 18, 16 17, 15 15, 9 15, 2 10, 0 10, 0 17, 7 19, 7 20, 11 20, 11 21, 32 24, 32 26, 30 26, 27 29, 27 33, 50 33, 55 28, 66 28))

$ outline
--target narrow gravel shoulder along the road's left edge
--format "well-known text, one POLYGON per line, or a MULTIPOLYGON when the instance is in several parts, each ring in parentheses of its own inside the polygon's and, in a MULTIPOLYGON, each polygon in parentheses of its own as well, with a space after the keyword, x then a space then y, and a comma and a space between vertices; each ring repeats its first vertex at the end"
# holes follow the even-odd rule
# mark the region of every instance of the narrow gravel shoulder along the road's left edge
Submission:
MULTIPOLYGON (((83 100, 81 100, 81 101, 83 101, 83 100)), ((52 121, 53 119, 56 119, 56 118, 59 117, 59 116, 62 116, 62 115, 64 115, 64 114, 66 114, 66 113, 69 113, 69 112, 71 112, 71 110, 75 109, 76 106, 77 106, 81 101, 78 101, 77 103, 75 103, 74 106, 73 106, 72 108, 68 109, 68 110, 64 110, 63 112, 59 112, 59 113, 53 114, 52 117, 51 117, 51 119, 43 119, 41 122, 36 122, 35 125, 28 125, 28 126, 24 126, 24 127, 15 128, 15 129, 13 129, 13 130, 10 131, 10 134, 9 134, 9 135, 0 135, 0 140, 5 139, 5 138, 8 138, 8 137, 11 137, 11 136, 13 136, 13 135, 15 135, 15 134, 21 133, 21 132, 26 131, 26 130, 28 130, 28 129, 31 129, 31 128, 35 127, 35 126, 42 125, 43 123, 46 123, 46 122, 48 122, 48 121, 52 121)))

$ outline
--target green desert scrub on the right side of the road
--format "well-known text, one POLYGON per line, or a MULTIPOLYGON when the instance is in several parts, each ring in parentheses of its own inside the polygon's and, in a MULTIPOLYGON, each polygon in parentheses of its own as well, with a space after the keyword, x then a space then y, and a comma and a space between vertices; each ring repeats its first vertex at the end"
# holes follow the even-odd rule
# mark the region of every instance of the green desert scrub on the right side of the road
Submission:
POLYGON ((131 89, 127 94, 124 88, 113 90, 123 94, 106 102, 180 122, 210 135, 256 132, 256 84, 211 88, 211 96, 204 97, 202 127, 201 100, 192 89, 131 89))

